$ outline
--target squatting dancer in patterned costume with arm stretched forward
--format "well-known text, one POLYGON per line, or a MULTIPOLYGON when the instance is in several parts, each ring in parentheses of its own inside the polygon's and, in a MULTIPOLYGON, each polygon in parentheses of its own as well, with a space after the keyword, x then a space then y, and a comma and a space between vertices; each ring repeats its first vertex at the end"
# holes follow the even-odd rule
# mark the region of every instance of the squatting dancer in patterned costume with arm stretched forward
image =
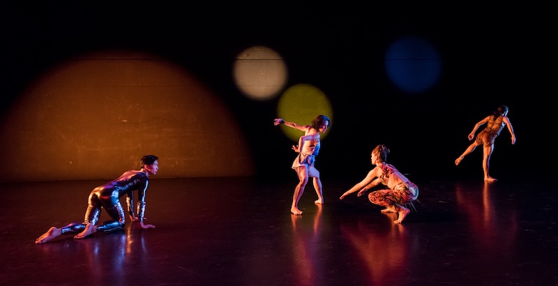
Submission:
POLYGON ((378 186, 380 183, 388 186, 389 189, 376 190, 368 194, 368 200, 372 204, 385 206, 382 213, 398 213, 398 219, 393 223, 402 223, 402 221, 411 212, 404 204, 409 204, 418 197, 418 188, 414 183, 409 181, 407 177, 401 174, 393 165, 386 163, 389 149, 385 145, 378 145, 372 150, 370 159, 372 164, 376 165, 374 169, 368 172, 368 175, 360 182, 354 185, 347 192, 341 195, 343 200, 347 195, 359 190, 357 196, 363 195, 368 189, 378 186))

